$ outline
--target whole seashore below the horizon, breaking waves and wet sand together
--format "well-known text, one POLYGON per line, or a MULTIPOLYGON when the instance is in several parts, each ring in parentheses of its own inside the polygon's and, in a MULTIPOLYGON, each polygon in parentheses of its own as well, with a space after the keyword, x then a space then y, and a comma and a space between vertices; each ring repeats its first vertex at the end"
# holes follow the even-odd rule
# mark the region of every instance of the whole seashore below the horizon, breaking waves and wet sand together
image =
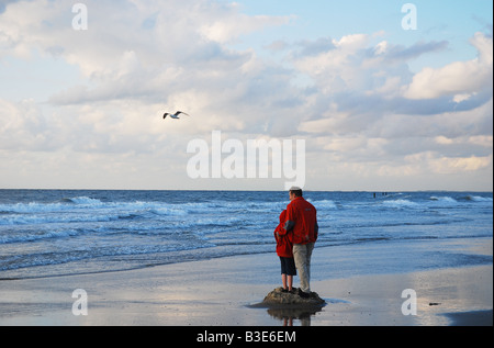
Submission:
POLYGON ((0 325, 492 325, 492 192, 306 199, 316 311, 258 305, 287 192, 0 190, 0 325))

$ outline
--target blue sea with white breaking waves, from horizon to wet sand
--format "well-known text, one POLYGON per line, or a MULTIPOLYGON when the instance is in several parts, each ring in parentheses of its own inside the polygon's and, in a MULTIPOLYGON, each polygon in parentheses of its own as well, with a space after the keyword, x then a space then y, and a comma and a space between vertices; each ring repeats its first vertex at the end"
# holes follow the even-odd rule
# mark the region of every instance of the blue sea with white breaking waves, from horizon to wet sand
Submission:
MULTIPOLYGON (((317 209, 314 254, 335 257, 333 277, 493 263, 492 192, 304 198, 317 209)), ((0 280, 276 256, 288 203, 278 191, 0 190, 0 280)))

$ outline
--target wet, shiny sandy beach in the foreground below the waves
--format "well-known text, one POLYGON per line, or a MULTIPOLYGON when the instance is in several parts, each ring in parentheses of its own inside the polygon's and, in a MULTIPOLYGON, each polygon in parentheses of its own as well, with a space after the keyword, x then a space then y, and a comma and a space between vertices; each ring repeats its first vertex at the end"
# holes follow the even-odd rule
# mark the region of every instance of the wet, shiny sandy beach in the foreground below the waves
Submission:
MULTIPOLYGON (((322 250, 313 259, 313 273, 325 267, 322 250)), ((327 302, 317 313, 252 306, 280 285, 279 278, 276 255, 261 254, 120 272, 2 280, 0 325, 492 325, 492 265, 344 279, 313 277, 312 290, 327 302), (72 313, 81 299, 72 298, 77 289, 87 293, 87 315, 72 313), (415 315, 402 312, 411 300, 402 298, 406 289, 416 293, 415 315)))

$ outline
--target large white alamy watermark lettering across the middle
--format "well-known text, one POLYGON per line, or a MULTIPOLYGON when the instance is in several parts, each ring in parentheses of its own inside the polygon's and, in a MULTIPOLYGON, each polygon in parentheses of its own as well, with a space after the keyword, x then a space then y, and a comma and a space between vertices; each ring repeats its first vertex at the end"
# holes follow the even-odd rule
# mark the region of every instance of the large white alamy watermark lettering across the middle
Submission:
POLYGON ((304 139, 296 139, 295 146, 292 139, 248 139, 244 144, 239 139, 222 142, 222 132, 213 131, 211 148, 206 141, 193 139, 189 142, 187 153, 195 154, 187 164, 187 173, 191 179, 284 178, 287 190, 292 186, 303 188, 305 184, 304 139), (223 158, 223 155, 227 156, 223 158))

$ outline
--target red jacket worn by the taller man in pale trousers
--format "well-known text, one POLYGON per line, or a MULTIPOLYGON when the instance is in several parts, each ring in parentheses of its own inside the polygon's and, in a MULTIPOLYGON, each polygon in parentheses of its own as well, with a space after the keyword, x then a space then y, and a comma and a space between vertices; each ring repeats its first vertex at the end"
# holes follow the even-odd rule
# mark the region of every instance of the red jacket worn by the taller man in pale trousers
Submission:
POLYGON ((293 244, 307 244, 317 240, 317 211, 302 197, 295 198, 287 206, 284 229, 290 233, 293 244))

